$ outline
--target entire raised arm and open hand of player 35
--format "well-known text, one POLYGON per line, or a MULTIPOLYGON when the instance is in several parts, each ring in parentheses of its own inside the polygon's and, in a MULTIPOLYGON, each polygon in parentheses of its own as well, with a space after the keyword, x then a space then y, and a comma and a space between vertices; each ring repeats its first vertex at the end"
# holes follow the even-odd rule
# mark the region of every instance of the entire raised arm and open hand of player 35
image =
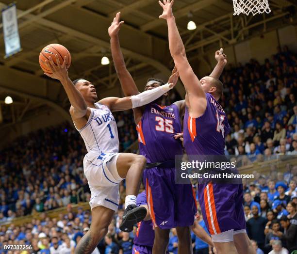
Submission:
POLYGON ((113 20, 113 23, 108 28, 108 34, 110 36, 110 46, 115 64, 115 70, 118 79, 121 83, 121 87, 124 91, 125 96, 138 95, 139 91, 132 78, 130 72, 126 68, 124 57, 120 48, 118 32, 124 21, 120 21, 120 12, 118 12, 113 20))

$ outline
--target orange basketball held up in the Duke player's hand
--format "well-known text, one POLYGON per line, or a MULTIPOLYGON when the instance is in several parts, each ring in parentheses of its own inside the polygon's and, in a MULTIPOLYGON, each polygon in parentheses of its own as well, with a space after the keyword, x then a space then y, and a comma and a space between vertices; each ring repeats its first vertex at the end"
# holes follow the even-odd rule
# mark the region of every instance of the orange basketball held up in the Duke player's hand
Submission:
POLYGON ((66 68, 68 69, 71 64, 71 56, 67 48, 65 48, 61 44, 49 44, 48 46, 44 47, 40 54, 39 54, 39 64, 40 67, 44 70, 44 72, 51 74, 51 70, 46 65, 46 60, 49 60, 49 56, 51 57, 54 63, 56 62, 55 55, 59 56, 60 63, 62 64, 64 61, 64 57, 66 56, 66 68))

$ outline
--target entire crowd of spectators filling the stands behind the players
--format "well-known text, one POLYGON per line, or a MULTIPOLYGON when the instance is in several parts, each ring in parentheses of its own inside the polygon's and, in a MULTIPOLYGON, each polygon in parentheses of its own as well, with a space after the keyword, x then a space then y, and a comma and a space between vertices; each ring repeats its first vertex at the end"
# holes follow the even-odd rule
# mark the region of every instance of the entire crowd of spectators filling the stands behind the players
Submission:
MULTIPOLYGON (((226 137, 226 154, 297 154, 297 56, 287 47, 278 49, 271 60, 260 65, 251 60, 228 67, 221 77, 225 93, 220 103, 227 112, 231 133, 226 137)), ((178 100, 172 93, 169 102, 178 100)), ((120 151, 137 140, 132 111, 115 114, 120 151)), ((24 215, 41 213, 41 220, 15 226, 0 226, 0 254, 5 244, 28 244, 36 254, 70 253, 89 230, 90 212, 71 204, 88 201, 90 190, 83 174, 86 149, 79 133, 67 124, 49 127, 16 139, 0 153, 0 224, 24 215), (66 206, 67 214, 50 219, 46 211, 66 206)), ((247 233, 257 254, 290 253, 297 250, 297 166, 285 174, 271 165, 270 175, 254 172, 253 182, 244 182, 244 211, 247 233), (282 251, 282 252, 281 252, 282 251)), ((120 206, 107 236, 99 243, 101 254, 130 254, 131 234, 118 225, 123 213, 125 183, 120 185, 120 206), (125 247, 124 247, 125 246, 125 247)), ((198 218, 199 223, 203 220, 198 218)), ((170 252, 177 253, 173 230, 170 252)), ((208 246, 193 235, 197 254, 208 246)), ((13 252, 11 252, 13 253, 13 252)), ((25 252, 24 252, 25 254, 25 252)))

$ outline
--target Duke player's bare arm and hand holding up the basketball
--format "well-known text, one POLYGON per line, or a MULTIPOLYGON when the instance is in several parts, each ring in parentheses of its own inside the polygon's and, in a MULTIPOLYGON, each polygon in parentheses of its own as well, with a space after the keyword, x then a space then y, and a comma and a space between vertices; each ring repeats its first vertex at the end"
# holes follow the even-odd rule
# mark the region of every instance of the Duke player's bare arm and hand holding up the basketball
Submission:
POLYGON ((52 79, 60 80, 71 104, 70 114, 72 118, 82 118, 87 112, 87 105, 82 97, 82 94, 76 89, 71 79, 68 77, 68 71, 66 69, 66 56, 64 57, 64 62, 62 65, 60 64, 58 55, 55 55, 55 57, 57 64, 52 61, 51 57, 49 57, 49 61, 46 60, 46 64, 51 70, 52 74, 45 74, 52 79))

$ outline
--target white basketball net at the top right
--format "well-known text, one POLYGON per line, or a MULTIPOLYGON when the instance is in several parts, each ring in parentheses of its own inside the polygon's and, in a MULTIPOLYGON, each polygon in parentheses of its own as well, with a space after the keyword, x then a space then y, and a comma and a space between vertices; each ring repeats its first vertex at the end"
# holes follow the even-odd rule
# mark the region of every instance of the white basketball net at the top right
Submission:
POLYGON ((233 0, 234 15, 241 13, 245 15, 270 13, 268 0, 233 0))

